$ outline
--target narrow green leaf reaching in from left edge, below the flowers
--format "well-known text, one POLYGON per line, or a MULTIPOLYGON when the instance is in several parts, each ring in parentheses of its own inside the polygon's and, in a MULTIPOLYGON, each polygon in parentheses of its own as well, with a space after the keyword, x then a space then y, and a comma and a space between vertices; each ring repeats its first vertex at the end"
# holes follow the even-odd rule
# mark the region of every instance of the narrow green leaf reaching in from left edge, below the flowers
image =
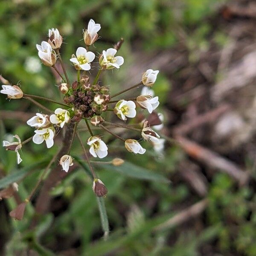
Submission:
POLYGON ((33 169, 38 169, 38 168, 42 168, 43 166, 45 166, 45 164, 48 162, 48 158, 47 160, 44 159, 38 163, 34 163, 30 166, 26 166, 26 167, 23 167, 22 169, 16 171, 16 172, 12 172, 11 174, 3 177, 1 180, 0 180, 0 189, 3 189, 7 186, 9 186, 11 183, 14 183, 16 182, 17 180, 20 180, 22 179, 23 177, 25 177, 25 175, 32 171, 33 169))

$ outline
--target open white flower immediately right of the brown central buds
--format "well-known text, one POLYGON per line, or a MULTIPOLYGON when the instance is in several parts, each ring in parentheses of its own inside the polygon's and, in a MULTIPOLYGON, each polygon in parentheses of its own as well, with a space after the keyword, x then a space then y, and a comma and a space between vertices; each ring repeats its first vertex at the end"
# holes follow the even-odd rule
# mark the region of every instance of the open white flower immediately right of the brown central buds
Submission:
POLYGON ((124 99, 121 99, 119 100, 119 102, 116 103, 114 113, 117 115, 118 118, 126 121, 126 116, 131 118, 136 116, 135 108, 136 105, 133 101, 126 101, 124 99))

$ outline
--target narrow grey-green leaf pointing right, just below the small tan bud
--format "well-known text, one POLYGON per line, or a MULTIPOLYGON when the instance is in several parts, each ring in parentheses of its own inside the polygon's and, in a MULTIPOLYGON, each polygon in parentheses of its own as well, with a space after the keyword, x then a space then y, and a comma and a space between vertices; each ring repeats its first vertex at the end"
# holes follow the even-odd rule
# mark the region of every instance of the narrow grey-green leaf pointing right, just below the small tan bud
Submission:
POLYGON ((159 173, 148 171, 147 169, 136 166, 133 163, 126 162, 121 166, 106 166, 106 170, 118 172, 128 177, 133 177, 140 180, 152 180, 156 182, 169 183, 170 181, 159 173))

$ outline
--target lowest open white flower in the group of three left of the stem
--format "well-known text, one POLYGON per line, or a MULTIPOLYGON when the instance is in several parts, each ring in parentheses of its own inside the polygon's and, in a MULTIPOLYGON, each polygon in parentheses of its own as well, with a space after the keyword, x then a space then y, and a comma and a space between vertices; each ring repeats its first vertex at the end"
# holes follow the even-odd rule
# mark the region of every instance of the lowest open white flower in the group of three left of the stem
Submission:
POLYGON ((55 135, 55 129, 53 127, 44 128, 35 130, 35 135, 33 136, 33 142, 35 144, 41 144, 45 141, 47 148, 51 148, 53 146, 53 138, 55 135))

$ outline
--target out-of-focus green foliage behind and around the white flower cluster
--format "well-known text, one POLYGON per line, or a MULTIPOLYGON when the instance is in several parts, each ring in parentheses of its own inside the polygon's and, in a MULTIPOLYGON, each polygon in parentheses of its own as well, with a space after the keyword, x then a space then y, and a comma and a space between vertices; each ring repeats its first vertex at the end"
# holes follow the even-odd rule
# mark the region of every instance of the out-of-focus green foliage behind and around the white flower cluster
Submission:
MULTIPOLYGON (((2 0, 0 73, 14 84, 20 81, 27 93, 41 95, 43 92, 45 96, 58 99, 60 96, 58 88, 54 86, 52 73, 47 67, 37 64, 35 44, 45 40, 49 28, 57 27, 67 43, 61 52, 67 63, 68 74, 75 77, 68 60, 76 47, 83 46, 83 41, 79 40, 90 18, 102 25, 96 51, 101 52, 119 38, 125 38, 120 50, 125 65, 118 73, 115 71, 114 75, 110 74, 107 78, 115 86, 122 81, 123 76, 128 76, 126 68, 136 61, 136 58, 131 57, 135 47, 145 54, 175 47, 180 41, 180 28, 186 32, 189 60, 194 62, 198 60, 198 51, 206 51, 209 47, 207 37, 212 24, 206 18, 214 16, 216 6, 222 2, 2 0)), ((215 41, 221 46, 227 43, 227 38, 221 32, 216 32, 215 41)), ((160 110, 164 110, 167 92, 171 89, 168 76, 160 74, 156 85, 160 110)), ((54 107, 54 104, 49 105, 49 108, 54 107)), ((37 111, 37 108, 23 100, 22 104, 15 100, 9 102, 3 96, 0 97, 0 108, 37 111)), ((33 131, 19 121, 5 120, 4 123, 0 122, 0 139, 6 139, 6 134, 19 134, 21 139, 25 139, 32 136, 33 131)), ((86 137, 85 134, 84 141, 86 137)), ((116 142, 111 145, 115 149, 119 146, 116 142)), ((147 154, 139 157, 118 148, 119 155, 126 160, 123 166, 96 167, 109 191, 104 199, 110 224, 108 241, 102 239, 97 200, 91 189, 90 176, 85 172, 87 166, 81 163, 79 169, 51 191, 55 202, 62 202, 62 208, 44 215, 33 232, 29 231, 34 214, 32 204, 29 204, 25 218, 20 222, 9 219, 5 212, 0 211, 0 233, 5 234, 6 255, 16 255, 28 248, 39 255, 63 255, 61 251, 77 248, 78 254, 73 255, 107 255, 114 250, 115 255, 120 256, 197 256, 207 255, 201 254, 204 244, 210 244, 213 253, 255 255, 256 197, 249 187, 238 189, 231 178, 223 174, 213 177, 207 196, 209 205, 200 225, 195 223, 154 231, 157 225, 175 215, 179 209, 177 206, 183 208, 200 198, 185 183, 166 183, 166 178, 171 179, 176 174, 177 163, 185 157, 179 148, 170 146, 163 157, 157 157, 151 146, 147 143, 143 143, 143 146, 147 148, 147 154)), ((19 195, 25 199, 45 166, 44 157, 50 158, 57 148, 58 145, 55 145, 46 152, 44 145, 29 143, 23 148, 23 162, 19 170, 15 164, 15 154, 0 148, 0 169, 7 175, 0 180, 0 187, 24 176, 19 185, 19 195), (30 175, 25 176, 27 173, 30 175)), ((79 145, 75 144, 73 155, 79 156, 80 153, 79 145)), ((16 205, 13 198, 5 203, 9 210, 16 205)), ((98 203, 102 207, 102 202, 98 203)), ((105 209, 101 210, 104 212, 105 209)), ((103 230, 106 231, 106 223, 103 230)))

